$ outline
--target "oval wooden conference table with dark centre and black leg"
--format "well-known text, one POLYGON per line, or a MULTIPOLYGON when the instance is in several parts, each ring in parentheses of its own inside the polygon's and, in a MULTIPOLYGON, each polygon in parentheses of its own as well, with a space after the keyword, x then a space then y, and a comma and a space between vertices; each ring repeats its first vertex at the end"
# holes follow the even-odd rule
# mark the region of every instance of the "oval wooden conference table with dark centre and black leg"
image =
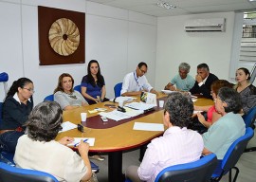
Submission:
MULTIPOLYGON (((167 95, 163 93, 159 93, 157 100, 166 100, 166 96, 167 95)), ((134 101, 138 101, 138 99, 134 101)), ((107 122, 103 122, 101 116, 99 116, 99 112, 90 113, 89 111, 96 108, 105 108, 107 109, 105 112, 109 112, 115 109, 105 106, 105 104, 115 104, 118 106, 117 103, 107 101, 64 111, 64 121, 70 121, 74 124, 82 123, 84 132, 82 133, 77 129, 69 130, 60 133, 56 137, 56 140, 62 137, 94 137, 94 146, 91 146, 89 151, 108 154, 108 181, 120 182, 123 180, 122 152, 137 149, 140 146, 149 143, 153 138, 163 134, 163 131, 133 130, 135 122, 163 123, 163 108, 158 106, 157 101, 155 111, 150 111, 137 117, 126 118, 119 121, 108 119, 107 122), (87 113, 85 122, 81 122, 81 113, 83 112, 87 113)), ((194 104, 210 105, 213 104, 213 102, 208 99, 197 99, 194 104)))

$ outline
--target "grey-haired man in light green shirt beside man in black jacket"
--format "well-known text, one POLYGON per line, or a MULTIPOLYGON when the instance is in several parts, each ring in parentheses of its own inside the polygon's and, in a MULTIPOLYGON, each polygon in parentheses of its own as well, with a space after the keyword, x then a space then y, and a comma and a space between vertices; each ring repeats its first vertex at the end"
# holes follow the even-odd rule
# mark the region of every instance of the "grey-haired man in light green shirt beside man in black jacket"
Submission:
POLYGON ((188 75, 190 72, 191 65, 187 63, 181 63, 178 66, 178 75, 174 76, 171 82, 169 82, 164 89, 165 90, 180 90, 180 91, 190 91, 194 84, 194 79, 191 75, 188 75), (176 85, 176 88, 174 86, 176 85))

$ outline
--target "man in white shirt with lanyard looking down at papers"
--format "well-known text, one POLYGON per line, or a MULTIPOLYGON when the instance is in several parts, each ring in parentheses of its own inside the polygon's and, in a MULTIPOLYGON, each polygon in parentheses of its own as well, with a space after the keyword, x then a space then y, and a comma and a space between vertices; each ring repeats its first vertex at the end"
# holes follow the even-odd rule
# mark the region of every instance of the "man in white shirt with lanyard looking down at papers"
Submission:
POLYGON ((147 70, 147 64, 143 62, 137 64, 137 69, 124 77, 120 91, 121 96, 136 96, 140 95, 142 91, 157 95, 157 92, 144 75, 147 73, 147 70))

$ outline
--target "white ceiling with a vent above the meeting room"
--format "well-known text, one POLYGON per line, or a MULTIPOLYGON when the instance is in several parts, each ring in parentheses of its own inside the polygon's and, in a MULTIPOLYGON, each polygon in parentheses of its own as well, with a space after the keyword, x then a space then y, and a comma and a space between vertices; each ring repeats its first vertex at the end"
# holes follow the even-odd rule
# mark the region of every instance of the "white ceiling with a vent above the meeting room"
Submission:
POLYGON ((256 9, 256 2, 249 0, 87 0, 103 5, 128 9, 153 16, 176 16, 206 12, 226 12, 256 9), (155 4, 166 2, 175 9, 163 9, 155 4))

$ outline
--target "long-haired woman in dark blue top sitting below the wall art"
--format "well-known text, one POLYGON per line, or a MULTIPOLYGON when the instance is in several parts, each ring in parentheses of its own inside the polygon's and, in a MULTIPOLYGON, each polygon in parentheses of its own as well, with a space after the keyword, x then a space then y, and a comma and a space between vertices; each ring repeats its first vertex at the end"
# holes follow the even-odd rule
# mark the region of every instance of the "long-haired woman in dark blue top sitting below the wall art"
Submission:
POLYGON ((87 75, 82 78, 81 92, 89 104, 107 101, 104 78, 101 75, 100 64, 91 60, 87 66, 87 75))

